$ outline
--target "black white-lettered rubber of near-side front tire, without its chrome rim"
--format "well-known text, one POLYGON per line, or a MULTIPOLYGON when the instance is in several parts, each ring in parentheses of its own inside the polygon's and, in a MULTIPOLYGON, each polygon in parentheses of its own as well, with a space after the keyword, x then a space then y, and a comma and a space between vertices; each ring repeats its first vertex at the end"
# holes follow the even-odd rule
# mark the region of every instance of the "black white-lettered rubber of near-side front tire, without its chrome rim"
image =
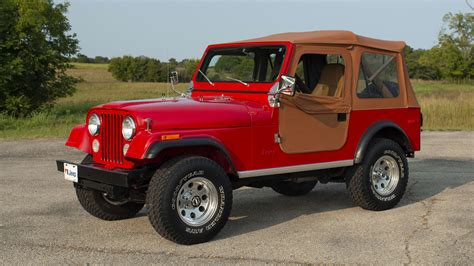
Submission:
POLYGON ((153 228, 178 244, 192 245, 212 239, 224 227, 232 208, 232 186, 225 171, 214 161, 184 156, 165 162, 148 186, 146 206, 153 228), (178 191, 186 182, 206 178, 216 188, 218 207, 201 226, 186 224, 178 213, 178 191))

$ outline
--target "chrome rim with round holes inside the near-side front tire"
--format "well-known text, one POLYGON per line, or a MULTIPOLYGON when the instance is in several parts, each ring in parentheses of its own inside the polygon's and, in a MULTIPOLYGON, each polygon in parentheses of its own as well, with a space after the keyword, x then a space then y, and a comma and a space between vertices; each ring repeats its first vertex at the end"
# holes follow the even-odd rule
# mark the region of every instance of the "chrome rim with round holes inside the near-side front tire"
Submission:
POLYGON ((179 218, 191 226, 206 224, 217 211, 218 197, 216 187, 207 178, 188 180, 176 198, 179 218))

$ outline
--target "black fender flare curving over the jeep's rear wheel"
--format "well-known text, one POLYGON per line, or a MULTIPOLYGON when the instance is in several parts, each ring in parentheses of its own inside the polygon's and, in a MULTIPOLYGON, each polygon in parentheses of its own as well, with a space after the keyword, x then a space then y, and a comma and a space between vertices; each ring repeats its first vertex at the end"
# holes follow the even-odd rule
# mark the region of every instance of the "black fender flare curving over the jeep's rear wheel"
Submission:
POLYGON ((411 146, 411 142, 405 133, 405 131, 397 124, 395 124, 392 121, 388 120, 382 120, 379 122, 376 122, 372 124, 369 128, 367 128, 362 135, 362 137, 359 140, 359 144, 357 145, 357 150, 354 155, 354 163, 360 163, 362 162, 362 159, 364 158, 367 148, 369 146, 370 141, 372 138, 377 134, 380 130, 390 128, 390 129, 395 129, 400 133, 400 135, 403 138, 403 142, 406 143, 406 147, 402 147, 406 150, 407 153, 412 153, 413 148, 411 146))

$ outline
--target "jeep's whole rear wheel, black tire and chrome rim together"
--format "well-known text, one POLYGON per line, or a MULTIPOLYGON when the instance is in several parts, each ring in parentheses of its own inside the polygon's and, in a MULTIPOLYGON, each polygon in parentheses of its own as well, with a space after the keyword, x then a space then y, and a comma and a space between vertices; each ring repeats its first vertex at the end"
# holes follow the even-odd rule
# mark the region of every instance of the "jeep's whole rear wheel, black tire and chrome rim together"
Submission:
POLYGON ((408 184, 408 162, 398 143, 375 139, 361 164, 346 176, 353 202, 367 210, 393 208, 402 199, 408 184))

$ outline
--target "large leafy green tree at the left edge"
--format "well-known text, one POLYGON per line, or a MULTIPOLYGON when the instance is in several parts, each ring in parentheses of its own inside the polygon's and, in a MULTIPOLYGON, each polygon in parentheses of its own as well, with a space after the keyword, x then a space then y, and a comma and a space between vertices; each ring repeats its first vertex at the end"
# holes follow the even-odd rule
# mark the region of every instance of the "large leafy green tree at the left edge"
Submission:
POLYGON ((68 6, 52 0, 0 2, 0 112, 26 116, 74 92, 77 79, 66 70, 78 41, 69 33, 68 6))

